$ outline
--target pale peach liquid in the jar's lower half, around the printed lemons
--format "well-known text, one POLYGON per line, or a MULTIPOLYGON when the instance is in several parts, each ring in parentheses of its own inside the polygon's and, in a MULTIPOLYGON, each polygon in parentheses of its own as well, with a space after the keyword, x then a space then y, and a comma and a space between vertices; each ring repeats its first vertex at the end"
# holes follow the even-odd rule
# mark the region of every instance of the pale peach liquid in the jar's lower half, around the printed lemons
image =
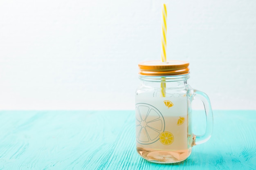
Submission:
MULTIPOLYGON (((162 131, 171 132, 174 137, 173 143, 169 145, 162 144, 160 140, 151 144, 141 144, 141 142, 138 141, 139 138, 137 138, 137 152, 139 155, 144 159, 155 163, 175 163, 183 161, 189 157, 192 149, 192 137, 188 133, 188 117, 183 117, 185 120, 181 125, 177 125, 177 120, 180 119, 179 116, 164 117, 165 129, 162 131)), ((143 126, 146 125, 143 124, 143 126)), ((150 134, 150 132, 148 133, 150 134)), ((161 134, 161 132, 159 133, 161 134)), ((141 137, 140 140, 142 140, 141 137)))

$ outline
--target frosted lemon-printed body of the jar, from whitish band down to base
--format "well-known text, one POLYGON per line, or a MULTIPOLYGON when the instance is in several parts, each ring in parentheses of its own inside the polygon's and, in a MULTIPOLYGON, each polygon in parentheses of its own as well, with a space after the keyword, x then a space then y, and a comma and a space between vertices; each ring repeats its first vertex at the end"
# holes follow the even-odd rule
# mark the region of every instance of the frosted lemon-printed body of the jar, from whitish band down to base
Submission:
POLYGON ((187 98, 180 95, 136 97, 137 152, 148 161, 179 162, 191 153, 187 98))

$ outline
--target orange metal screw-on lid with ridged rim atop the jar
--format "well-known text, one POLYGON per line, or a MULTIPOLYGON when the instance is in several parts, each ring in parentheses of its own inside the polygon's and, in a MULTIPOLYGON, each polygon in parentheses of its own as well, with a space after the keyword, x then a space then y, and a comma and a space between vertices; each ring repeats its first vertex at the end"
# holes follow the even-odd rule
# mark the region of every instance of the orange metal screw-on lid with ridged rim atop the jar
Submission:
POLYGON ((179 60, 141 62, 139 74, 150 76, 189 74, 189 62, 179 60))

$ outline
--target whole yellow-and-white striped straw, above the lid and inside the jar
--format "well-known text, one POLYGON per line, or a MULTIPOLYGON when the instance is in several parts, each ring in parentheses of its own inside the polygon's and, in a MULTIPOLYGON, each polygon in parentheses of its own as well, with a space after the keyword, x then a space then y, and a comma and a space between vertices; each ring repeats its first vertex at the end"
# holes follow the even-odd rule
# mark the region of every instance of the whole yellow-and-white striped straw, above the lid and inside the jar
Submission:
MULTIPOLYGON (((162 50, 161 50, 161 61, 166 62, 166 34, 167 34, 167 9, 166 4, 163 4, 162 6, 162 36, 161 36, 161 44, 162 44, 162 50)), ((161 78, 161 97, 166 96, 166 82, 165 78, 161 78)))

